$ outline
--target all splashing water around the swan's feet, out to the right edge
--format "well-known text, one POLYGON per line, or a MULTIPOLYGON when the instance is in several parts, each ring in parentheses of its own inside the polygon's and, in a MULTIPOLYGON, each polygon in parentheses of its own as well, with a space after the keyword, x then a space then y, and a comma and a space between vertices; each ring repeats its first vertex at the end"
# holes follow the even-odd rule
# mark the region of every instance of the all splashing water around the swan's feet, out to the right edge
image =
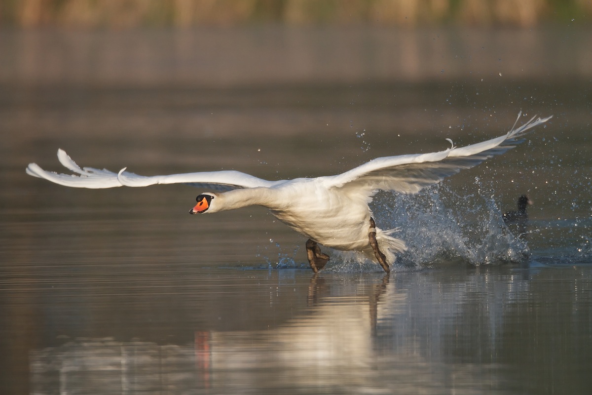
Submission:
MULTIPOLYGON (((567 218, 531 220, 526 243, 504 224, 496 191, 496 185, 475 178, 465 188, 445 182, 414 195, 379 192, 371 204, 378 226, 398 228, 394 237, 408 246, 406 253, 397 254, 392 270, 526 261, 545 265, 592 262, 592 216, 581 215, 582 210, 575 212, 577 205, 566 204, 567 218)), ((285 248, 269 240, 260 258, 269 269, 310 270, 301 246, 294 251, 285 248)), ((379 265, 360 253, 321 248, 331 256, 323 271, 381 272, 379 265)))

